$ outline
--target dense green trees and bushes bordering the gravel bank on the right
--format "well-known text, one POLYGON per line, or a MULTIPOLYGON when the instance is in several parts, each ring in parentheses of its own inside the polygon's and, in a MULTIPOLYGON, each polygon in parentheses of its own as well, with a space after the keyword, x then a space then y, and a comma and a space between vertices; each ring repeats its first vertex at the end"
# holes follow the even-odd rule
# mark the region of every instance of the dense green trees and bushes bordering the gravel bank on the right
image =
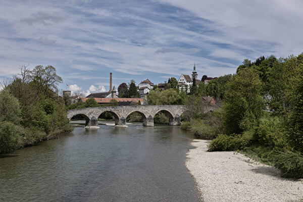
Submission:
MULTIPOLYGON (((200 120, 214 138, 209 151, 243 150, 285 177, 303 177, 303 54, 245 59, 222 99, 222 109, 200 120)), ((183 128, 193 130, 194 122, 183 128)))

